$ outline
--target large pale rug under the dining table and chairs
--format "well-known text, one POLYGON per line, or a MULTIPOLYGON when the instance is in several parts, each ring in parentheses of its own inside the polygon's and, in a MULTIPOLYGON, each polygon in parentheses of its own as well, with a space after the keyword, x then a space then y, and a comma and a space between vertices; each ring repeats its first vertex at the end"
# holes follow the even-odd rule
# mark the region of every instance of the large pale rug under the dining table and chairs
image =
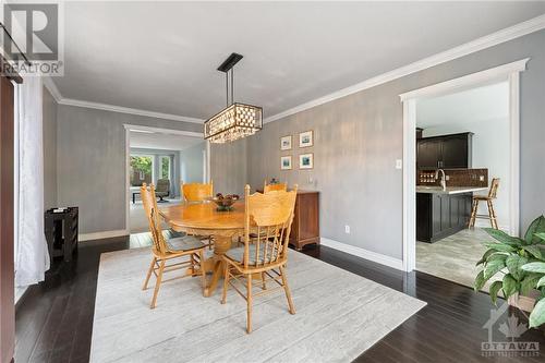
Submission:
MULTIPOLYGON (((101 255, 92 362, 350 362, 425 302, 290 250, 288 279, 296 314, 283 291, 246 304, 232 289, 204 298, 199 278, 142 291, 149 249, 101 255)), ((177 274, 180 271, 170 273, 177 274)), ((269 282, 274 283, 272 281, 269 282)), ((257 287, 261 289, 261 287, 257 287)))

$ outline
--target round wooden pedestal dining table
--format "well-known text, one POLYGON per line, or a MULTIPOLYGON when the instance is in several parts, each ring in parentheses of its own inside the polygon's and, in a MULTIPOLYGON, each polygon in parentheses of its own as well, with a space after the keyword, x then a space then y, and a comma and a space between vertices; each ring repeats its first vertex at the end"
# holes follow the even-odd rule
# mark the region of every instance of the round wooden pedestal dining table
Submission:
POLYGON ((218 211, 211 202, 184 203, 160 208, 160 214, 170 228, 177 232, 214 238, 214 255, 205 259, 204 269, 211 271, 211 279, 205 288, 205 297, 210 297, 223 273, 221 256, 231 249, 234 238, 244 233, 244 202, 233 204, 230 211, 218 211))

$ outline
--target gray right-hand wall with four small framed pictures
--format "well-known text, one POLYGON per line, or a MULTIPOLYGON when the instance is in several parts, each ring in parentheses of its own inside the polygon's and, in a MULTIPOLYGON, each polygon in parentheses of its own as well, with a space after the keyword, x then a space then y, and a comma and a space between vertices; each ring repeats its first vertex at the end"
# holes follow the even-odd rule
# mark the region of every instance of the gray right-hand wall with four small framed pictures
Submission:
POLYGON ((268 123, 249 137, 252 185, 277 177, 320 194, 322 235, 402 257, 402 105, 399 95, 530 57, 521 76, 521 223, 544 213, 545 31, 362 90, 268 123), (296 133, 314 130, 313 148, 299 149, 296 133), (294 149, 280 152, 280 136, 293 134, 294 149), (298 155, 314 152, 314 170, 298 170, 298 155), (294 170, 280 171, 280 155, 293 155, 294 170), (308 183, 313 177, 314 183, 308 183), (351 226, 351 234, 344 233, 351 226))

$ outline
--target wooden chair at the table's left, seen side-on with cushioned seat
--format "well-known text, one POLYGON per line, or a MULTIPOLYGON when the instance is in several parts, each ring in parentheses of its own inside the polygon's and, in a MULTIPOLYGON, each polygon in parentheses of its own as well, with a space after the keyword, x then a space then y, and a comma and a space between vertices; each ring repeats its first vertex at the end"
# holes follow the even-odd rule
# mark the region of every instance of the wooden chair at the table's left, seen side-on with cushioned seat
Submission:
POLYGON ((149 307, 155 308, 161 283, 178 278, 186 276, 201 276, 204 293, 204 289, 206 288, 206 273, 203 264, 206 244, 194 235, 184 235, 166 240, 161 229, 161 220, 159 217, 159 209, 157 208, 154 184, 150 184, 149 189, 146 187, 146 184, 143 184, 141 193, 142 203, 144 204, 144 210, 149 222, 149 231, 154 242, 152 246, 152 264, 149 265, 146 280, 144 281, 144 287, 142 288, 142 290, 147 289, 149 278, 152 277, 152 274, 154 274, 156 277, 155 291, 149 307), (167 262, 170 262, 173 258, 179 259, 178 262, 167 265, 167 262), (162 280, 164 273, 182 268, 186 269, 184 275, 165 281, 162 280))

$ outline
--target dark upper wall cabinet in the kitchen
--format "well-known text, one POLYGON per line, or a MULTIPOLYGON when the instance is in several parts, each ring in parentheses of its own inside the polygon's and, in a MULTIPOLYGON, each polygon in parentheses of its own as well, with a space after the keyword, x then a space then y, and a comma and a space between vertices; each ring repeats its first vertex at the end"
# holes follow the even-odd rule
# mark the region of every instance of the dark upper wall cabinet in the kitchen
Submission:
POLYGON ((471 168, 473 133, 424 137, 416 141, 419 169, 471 168))

